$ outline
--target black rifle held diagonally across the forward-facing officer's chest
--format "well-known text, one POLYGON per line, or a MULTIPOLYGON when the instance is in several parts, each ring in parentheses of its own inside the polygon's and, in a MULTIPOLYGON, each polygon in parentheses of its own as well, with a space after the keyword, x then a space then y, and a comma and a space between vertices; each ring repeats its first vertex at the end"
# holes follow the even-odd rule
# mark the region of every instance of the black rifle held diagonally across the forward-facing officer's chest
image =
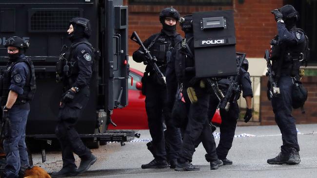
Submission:
POLYGON ((135 41, 136 43, 138 43, 141 47, 142 47, 142 51, 145 54, 145 59, 147 64, 149 64, 153 70, 155 71, 155 73, 158 75, 159 80, 163 83, 166 84, 165 81, 165 76, 163 75, 163 73, 159 70, 158 65, 156 64, 156 62, 158 61, 156 59, 155 56, 152 56, 151 53, 144 47, 141 39, 139 38, 137 32, 133 32, 131 37, 131 40, 135 41))

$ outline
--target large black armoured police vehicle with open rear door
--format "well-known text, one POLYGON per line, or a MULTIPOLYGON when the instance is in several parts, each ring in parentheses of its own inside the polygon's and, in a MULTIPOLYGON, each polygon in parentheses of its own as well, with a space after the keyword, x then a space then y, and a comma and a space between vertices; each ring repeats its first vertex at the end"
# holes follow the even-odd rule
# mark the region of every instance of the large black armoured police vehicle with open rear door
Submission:
POLYGON ((1 0, 0 1, 0 68, 8 61, 4 41, 10 36, 28 40, 26 55, 36 71, 37 90, 31 102, 27 138, 54 138, 62 94, 56 83, 56 63, 67 39, 69 20, 83 17, 90 20, 89 42, 99 50, 90 82, 90 99, 77 124, 82 138, 98 141, 133 140, 134 131, 107 131, 114 108, 128 105, 128 8, 122 0, 1 0))

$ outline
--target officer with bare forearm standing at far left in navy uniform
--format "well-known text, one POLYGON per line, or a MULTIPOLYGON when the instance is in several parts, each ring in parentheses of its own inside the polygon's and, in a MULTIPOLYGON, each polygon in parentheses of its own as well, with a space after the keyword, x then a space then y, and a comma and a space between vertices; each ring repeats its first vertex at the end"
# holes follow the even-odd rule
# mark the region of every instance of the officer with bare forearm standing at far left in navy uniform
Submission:
MULTIPOLYGON (((2 73, 2 113, 4 122, 3 148, 7 163, 1 178, 18 178, 20 169, 29 166, 25 144, 25 127, 30 111, 29 102, 36 89, 34 67, 24 52, 29 43, 18 36, 8 38, 4 46, 8 50, 7 70, 2 73)), ((23 172, 24 173, 24 172, 23 172)), ((22 173, 22 175, 23 175, 22 173)))

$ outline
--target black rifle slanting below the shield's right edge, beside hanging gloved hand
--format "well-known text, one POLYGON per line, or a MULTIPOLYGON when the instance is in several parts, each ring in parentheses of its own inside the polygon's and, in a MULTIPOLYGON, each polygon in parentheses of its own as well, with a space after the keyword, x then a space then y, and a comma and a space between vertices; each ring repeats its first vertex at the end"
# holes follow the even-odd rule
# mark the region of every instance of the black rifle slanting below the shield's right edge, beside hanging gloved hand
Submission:
POLYGON ((243 64, 243 60, 245 58, 245 53, 237 53, 237 54, 238 54, 237 58, 240 58, 238 68, 237 68, 237 75, 234 76, 232 81, 230 81, 231 84, 230 84, 224 98, 220 101, 220 104, 219 104, 219 108, 225 109, 226 111, 229 110, 230 101, 236 101, 239 97, 239 94, 240 94, 240 92, 239 92, 240 85, 238 83, 238 79, 240 76, 240 69, 241 69, 241 66, 243 64), (233 100, 231 100, 232 97, 233 97, 233 100))

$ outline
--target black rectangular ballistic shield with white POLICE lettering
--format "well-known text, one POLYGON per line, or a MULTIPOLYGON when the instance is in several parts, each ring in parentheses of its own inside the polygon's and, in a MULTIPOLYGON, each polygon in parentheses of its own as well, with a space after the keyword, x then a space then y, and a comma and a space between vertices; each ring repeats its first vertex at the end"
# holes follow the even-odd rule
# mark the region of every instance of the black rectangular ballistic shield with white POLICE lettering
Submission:
POLYGON ((196 77, 237 74, 232 10, 193 13, 196 77))

